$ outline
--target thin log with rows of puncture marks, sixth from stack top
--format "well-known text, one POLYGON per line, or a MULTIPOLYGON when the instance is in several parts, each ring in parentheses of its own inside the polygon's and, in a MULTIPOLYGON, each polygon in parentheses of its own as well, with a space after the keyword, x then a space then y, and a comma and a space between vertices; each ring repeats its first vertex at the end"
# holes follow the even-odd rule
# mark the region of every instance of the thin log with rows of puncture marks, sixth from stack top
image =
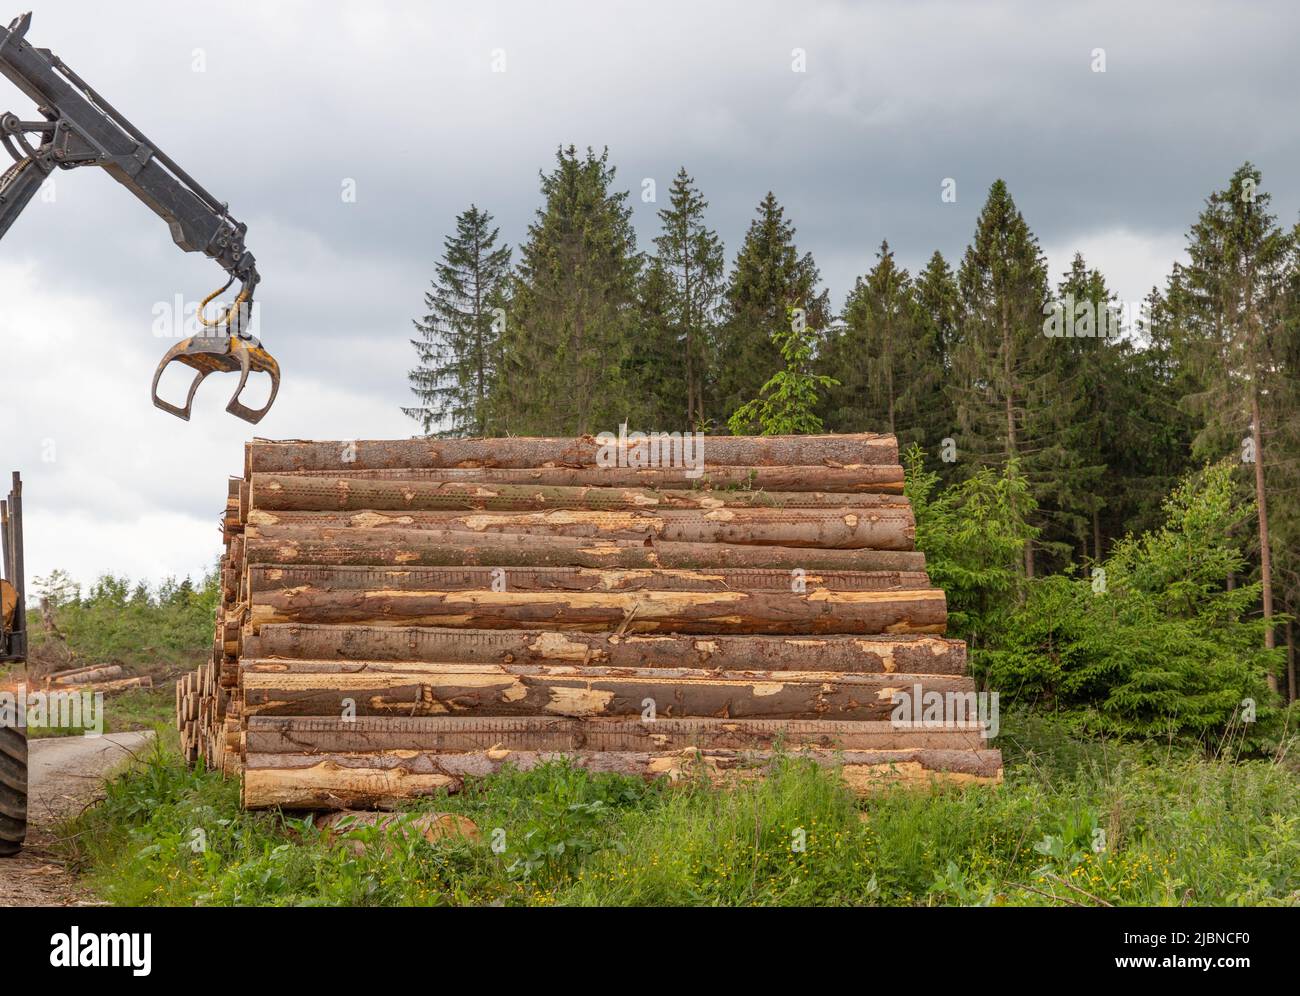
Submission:
POLYGON ((298 588, 334 592, 460 592, 500 588, 506 592, 896 592, 928 589, 930 577, 902 571, 611 571, 584 567, 292 567, 248 568, 252 596, 298 588))

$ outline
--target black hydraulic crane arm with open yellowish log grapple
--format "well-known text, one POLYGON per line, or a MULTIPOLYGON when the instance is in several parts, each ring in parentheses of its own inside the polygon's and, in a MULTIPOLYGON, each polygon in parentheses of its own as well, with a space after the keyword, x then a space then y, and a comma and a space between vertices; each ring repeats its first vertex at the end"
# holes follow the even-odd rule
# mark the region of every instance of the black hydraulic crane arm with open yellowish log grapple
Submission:
POLYGON ((44 118, 21 121, 12 113, 0 116, 0 144, 13 159, 13 165, 0 173, 0 238, 56 166, 104 169, 168 224, 177 246, 211 256, 229 274, 226 285, 199 307, 204 330, 177 343, 159 363, 153 373, 153 403, 188 419, 203 378, 225 371, 239 374, 239 386, 226 411, 250 423, 260 421, 280 390, 280 364, 247 332, 259 281, 257 264, 244 247, 247 226, 231 218, 224 203, 140 134, 58 56, 26 42, 30 25, 27 13, 8 29, 0 27, 0 73, 35 101, 44 118), (234 303, 218 319, 208 319, 204 307, 235 281, 239 293, 234 303), (185 406, 169 404, 157 394, 162 371, 173 360, 198 371, 185 406), (250 371, 270 376, 270 397, 263 408, 248 408, 239 402, 250 371))

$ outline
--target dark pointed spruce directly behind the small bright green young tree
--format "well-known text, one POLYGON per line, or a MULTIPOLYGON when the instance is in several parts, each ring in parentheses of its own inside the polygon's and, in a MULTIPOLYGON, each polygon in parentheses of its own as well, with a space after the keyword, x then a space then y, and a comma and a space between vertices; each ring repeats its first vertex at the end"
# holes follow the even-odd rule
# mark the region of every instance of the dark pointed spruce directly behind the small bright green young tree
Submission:
POLYGON ((831 321, 829 295, 818 293, 820 280, 811 254, 800 255, 794 226, 768 192, 736 255, 727 289, 715 411, 729 416, 783 369, 772 330, 786 324, 789 309, 802 309, 806 328, 820 337, 831 321))

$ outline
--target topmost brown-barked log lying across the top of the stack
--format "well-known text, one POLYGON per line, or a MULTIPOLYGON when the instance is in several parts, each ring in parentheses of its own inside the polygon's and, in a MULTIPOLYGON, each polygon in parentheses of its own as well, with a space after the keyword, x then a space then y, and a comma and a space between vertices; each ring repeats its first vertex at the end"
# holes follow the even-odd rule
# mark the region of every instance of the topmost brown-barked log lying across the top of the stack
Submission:
POLYGON ((244 477, 254 473, 389 467, 827 467, 898 463, 898 441, 876 433, 829 436, 706 436, 698 452, 663 452, 649 439, 604 447, 594 436, 577 438, 499 437, 488 439, 254 439, 244 447, 244 477), (612 458, 612 459, 610 459, 612 458))

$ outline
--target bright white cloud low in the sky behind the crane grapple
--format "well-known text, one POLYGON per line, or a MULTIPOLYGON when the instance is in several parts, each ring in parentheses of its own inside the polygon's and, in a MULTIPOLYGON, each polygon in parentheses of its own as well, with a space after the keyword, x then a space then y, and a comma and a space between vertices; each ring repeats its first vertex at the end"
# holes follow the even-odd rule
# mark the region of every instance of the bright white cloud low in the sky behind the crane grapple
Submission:
MULTIPOLYGON (((35 264, 0 264, 9 412, 0 472, 23 475, 29 575, 202 572, 220 553, 226 477, 242 473, 243 443, 255 432, 225 412, 234 378, 204 381, 190 423, 164 415, 148 386, 169 341, 104 313, 99 302, 42 286, 35 264)), ((411 425, 395 400, 350 387, 344 367, 329 382, 287 377, 256 432, 391 437, 411 425)))

